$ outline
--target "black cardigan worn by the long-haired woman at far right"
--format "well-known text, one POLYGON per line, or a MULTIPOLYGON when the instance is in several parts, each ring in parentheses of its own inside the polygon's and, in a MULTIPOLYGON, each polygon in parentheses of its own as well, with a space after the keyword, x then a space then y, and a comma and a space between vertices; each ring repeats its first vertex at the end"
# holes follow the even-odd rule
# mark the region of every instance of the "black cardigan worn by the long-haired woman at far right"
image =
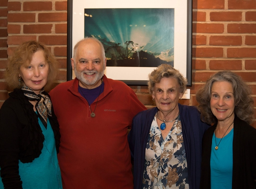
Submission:
MULTIPOLYGON (((200 189, 211 188, 210 157, 216 124, 205 133, 202 142, 202 174, 200 189)), ((232 189, 256 187, 256 129, 235 116, 233 138, 232 189)))

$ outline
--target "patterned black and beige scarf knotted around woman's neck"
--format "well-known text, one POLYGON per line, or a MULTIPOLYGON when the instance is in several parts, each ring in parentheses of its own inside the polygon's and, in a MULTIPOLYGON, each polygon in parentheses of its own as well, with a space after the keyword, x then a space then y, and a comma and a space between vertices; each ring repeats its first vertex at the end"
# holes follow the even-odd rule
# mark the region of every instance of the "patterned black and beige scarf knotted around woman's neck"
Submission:
POLYGON ((36 112, 41 122, 44 124, 44 127, 47 128, 47 115, 52 116, 52 102, 49 96, 42 94, 42 92, 44 92, 44 88, 41 89, 39 95, 36 95, 36 93, 34 93, 32 89, 28 88, 25 84, 22 86, 21 90, 28 100, 38 101, 36 102, 36 112))

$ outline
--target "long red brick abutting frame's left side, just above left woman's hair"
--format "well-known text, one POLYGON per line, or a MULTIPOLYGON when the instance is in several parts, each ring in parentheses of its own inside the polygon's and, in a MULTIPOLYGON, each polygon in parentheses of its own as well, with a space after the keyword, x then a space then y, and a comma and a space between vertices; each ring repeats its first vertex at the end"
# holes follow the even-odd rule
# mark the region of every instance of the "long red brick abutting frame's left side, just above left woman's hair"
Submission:
POLYGON ((66 35, 41 35, 38 37, 38 41, 45 43, 46 45, 66 45, 66 35))

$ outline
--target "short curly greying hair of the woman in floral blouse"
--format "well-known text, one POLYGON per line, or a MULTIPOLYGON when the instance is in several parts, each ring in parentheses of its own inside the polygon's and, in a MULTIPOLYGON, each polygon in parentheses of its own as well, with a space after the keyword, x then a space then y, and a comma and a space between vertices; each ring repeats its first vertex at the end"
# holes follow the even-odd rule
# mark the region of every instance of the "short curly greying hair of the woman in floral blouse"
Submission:
POLYGON ((148 90, 150 93, 154 91, 155 84, 160 83, 161 79, 164 77, 176 78, 179 84, 180 93, 184 93, 186 91, 186 85, 188 82, 183 75, 171 65, 161 64, 148 75, 148 90))

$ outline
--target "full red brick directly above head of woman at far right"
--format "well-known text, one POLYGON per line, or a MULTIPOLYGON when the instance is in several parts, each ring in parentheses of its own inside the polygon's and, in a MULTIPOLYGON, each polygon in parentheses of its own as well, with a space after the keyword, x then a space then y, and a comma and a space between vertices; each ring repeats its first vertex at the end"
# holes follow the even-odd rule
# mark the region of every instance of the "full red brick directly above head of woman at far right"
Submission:
POLYGON ((241 70, 241 60, 211 60, 210 70, 241 70))

